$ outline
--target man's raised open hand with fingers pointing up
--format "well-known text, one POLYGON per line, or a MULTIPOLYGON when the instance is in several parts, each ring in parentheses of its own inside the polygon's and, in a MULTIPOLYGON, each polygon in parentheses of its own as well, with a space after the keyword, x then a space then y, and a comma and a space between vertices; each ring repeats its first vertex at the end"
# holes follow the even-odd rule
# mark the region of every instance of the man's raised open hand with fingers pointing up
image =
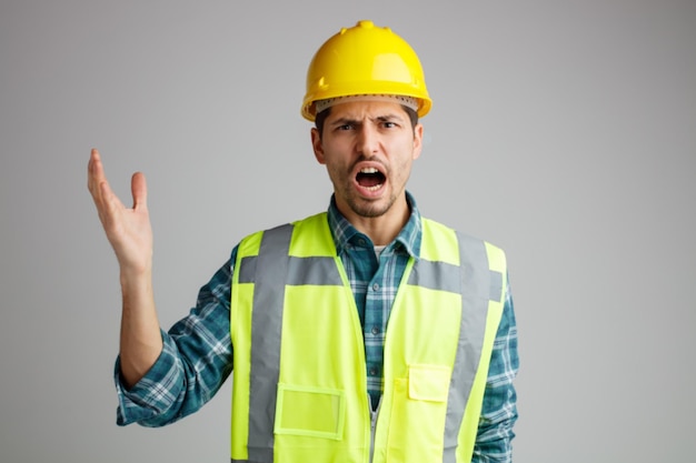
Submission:
POLYGON ((152 228, 145 175, 140 172, 132 175, 133 204, 132 208, 127 208, 109 187, 99 151, 93 149, 88 165, 87 185, 107 239, 116 252, 121 273, 148 272, 152 263, 152 228))

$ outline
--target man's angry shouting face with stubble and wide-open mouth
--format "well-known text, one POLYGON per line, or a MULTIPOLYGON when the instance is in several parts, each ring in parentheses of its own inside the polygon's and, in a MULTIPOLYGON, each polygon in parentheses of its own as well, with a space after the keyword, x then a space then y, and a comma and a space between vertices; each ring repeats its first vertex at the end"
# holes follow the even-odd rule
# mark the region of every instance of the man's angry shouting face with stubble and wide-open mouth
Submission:
POLYGON ((420 155, 422 125, 398 103, 354 101, 331 108, 324 133, 311 132, 338 209, 348 220, 404 214, 406 182, 420 155))

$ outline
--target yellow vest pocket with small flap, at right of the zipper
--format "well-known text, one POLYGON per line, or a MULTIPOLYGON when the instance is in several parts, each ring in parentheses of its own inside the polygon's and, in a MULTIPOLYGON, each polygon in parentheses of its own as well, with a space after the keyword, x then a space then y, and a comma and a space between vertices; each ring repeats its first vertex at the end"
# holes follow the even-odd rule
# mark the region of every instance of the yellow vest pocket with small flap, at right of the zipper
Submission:
POLYGON ((447 395, 451 369, 410 365, 408 378, 394 381, 387 457, 400 462, 443 460, 447 395))

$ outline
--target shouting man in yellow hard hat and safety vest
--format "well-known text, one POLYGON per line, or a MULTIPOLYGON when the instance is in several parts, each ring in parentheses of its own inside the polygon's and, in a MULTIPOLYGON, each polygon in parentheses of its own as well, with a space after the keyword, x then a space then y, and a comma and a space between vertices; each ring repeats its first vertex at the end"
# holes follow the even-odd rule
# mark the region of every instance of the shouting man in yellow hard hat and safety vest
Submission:
POLYGON ((328 211, 243 239, 168 333, 145 178, 125 208, 92 151, 123 299, 119 424, 193 413, 233 366, 232 462, 511 460, 505 256, 422 218, 406 191, 430 103, 416 53, 389 29, 360 21, 325 42, 301 112, 334 184, 328 211))

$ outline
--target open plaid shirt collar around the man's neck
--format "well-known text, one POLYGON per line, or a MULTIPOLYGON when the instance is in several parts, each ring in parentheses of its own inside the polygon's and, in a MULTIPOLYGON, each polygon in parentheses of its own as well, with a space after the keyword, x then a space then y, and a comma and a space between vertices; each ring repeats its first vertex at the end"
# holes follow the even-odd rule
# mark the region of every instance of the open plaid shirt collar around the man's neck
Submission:
MULTIPOLYGON (((422 236, 422 227, 420 224, 420 212, 418 211, 418 207, 416 205, 416 200, 414 197, 407 191, 406 192, 406 201, 410 207, 411 213, 408 218, 408 222, 401 229, 399 234, 394 239, 391 243, 387 245, 387 248, 395 248, 395 251, 398 248, 401 248, 406 253, 410 256, 418 259, 420 256, 420 241, 422 236), (397 246, 400 244, 400 246, 397 246)), ((336 244, 336 250, 338 254, 340 254, 349 243, 355 242, 356 239, 365 239, 368 243, 371 244, 369 236, 359 232, 352 224, 341 214, 336 207, 336 198, 331 195, 331 202, 329 203, 328 210, 328 219, 329 219, 329 229, 331 230, 331 235, 334 236, 334 243, 336 244)))

